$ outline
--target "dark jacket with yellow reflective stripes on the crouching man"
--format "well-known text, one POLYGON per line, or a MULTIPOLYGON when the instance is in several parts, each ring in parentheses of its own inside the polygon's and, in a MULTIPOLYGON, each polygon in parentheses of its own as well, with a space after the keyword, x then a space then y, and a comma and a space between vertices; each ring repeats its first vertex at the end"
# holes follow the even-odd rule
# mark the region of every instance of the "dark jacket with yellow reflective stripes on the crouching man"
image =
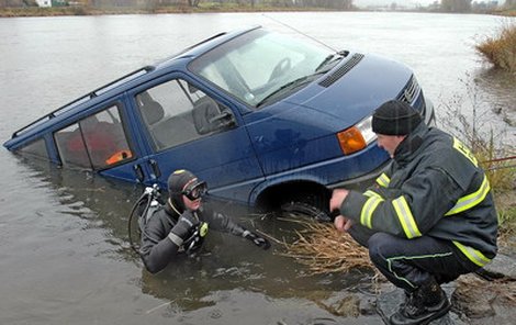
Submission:
POLYGON ((350 191, 340 212, 395 236, 450 240, 478 266, 496 255, 497 216, 484 171, 462 143, 424 123, 399 145, 377 184, 350 191))

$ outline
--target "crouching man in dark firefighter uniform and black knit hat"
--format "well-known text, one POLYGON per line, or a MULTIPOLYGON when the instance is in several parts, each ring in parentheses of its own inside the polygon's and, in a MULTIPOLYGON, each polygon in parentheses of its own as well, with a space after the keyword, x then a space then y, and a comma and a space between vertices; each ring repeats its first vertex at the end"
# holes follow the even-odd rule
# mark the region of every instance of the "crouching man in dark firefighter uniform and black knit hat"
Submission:
POLYGON ((368 247, 374 266, 405 302, 391 324, 427 324, 450 310, 440 284, 473 272, 496 255, 497 216, 490 184, 471 152, 389 101, 373 114, 378 145, 394 159, 366 192, 336 189, 338 231, 368 247))

